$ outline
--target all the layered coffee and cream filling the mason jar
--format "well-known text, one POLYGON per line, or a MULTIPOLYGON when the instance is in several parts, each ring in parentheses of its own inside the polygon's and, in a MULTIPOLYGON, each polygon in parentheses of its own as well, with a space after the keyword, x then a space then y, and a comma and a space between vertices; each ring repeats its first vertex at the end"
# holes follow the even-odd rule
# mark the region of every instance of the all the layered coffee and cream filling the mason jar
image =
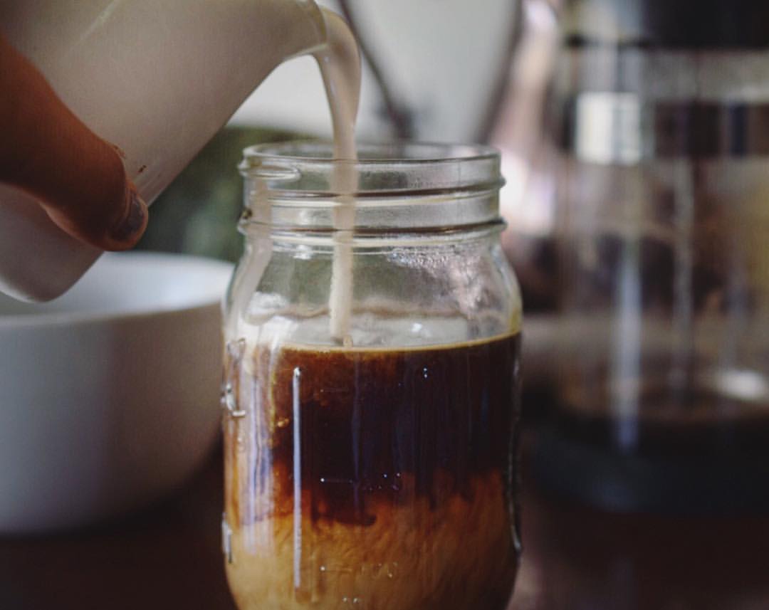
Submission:
POLYGON ((225 424, 238 606, 503 610, 519 349, 251 348, 225 424))

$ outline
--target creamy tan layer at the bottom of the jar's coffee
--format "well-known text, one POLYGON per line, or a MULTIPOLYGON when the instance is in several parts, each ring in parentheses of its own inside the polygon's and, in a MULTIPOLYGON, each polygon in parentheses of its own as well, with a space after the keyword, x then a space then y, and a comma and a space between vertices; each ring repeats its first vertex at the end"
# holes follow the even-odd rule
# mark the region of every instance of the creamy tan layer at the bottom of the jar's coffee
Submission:
POLYGON ((235 526, 227 577, 238 608, 503 610, 518 553, 502 487, 489 473, 438 507, 373 506, 371 525, 288 514, 235 526))

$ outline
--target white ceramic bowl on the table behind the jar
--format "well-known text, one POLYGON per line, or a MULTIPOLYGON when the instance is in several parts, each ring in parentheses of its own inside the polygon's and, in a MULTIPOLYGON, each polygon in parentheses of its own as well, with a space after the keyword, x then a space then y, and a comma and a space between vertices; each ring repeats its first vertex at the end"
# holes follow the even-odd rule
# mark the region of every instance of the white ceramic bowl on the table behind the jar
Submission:
POLYGON ((105 254, 51 303, 0 295, 0 532, 121 515, 205 461, 230 274, 195 257, 105 254))

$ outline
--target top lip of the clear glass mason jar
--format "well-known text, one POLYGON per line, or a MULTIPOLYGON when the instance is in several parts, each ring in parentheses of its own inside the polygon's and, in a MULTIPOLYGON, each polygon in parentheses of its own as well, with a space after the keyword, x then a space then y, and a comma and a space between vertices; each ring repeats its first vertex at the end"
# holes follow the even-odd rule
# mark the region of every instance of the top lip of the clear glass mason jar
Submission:
POLYGON ((255 144, 245 148, 243 161, 238 166, 247 175, 265 161, 288 161, 314 166, 355 164, 358 167, 387 165, 431 165, 468 163, 472 161, 498 163, 499 151, 485 144, 453 144, 441 142, 384 141, 358 142, 358 160, 334 159, 331 142, 323 140, 292 140, 255 144))

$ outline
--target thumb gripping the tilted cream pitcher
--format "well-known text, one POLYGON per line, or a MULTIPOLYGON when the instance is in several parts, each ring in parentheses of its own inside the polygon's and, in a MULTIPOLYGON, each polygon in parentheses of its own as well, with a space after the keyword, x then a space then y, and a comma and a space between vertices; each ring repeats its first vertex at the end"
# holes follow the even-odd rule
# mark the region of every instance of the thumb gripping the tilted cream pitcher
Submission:
POLYGON ((75 117, 2 36, 0 133, 0 181, 38 197, 48 216, 79 240, 102 250, 136 244, 147 205, 118 151, 75 117))

